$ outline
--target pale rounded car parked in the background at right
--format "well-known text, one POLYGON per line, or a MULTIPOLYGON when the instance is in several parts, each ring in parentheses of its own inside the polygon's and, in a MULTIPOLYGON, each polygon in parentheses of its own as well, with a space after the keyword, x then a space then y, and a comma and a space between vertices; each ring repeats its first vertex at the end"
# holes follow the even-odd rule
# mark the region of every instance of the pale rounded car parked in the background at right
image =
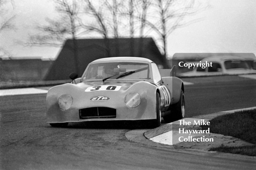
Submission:
POLYGON ((193 71, 180 73, 179 77, 213 76, 213 75, 238 75, 256 74, 256 70, 241 57, 236 56, 212 56, 201 60, 201 63, 211 63, 212 67, 195 67, 193 71))

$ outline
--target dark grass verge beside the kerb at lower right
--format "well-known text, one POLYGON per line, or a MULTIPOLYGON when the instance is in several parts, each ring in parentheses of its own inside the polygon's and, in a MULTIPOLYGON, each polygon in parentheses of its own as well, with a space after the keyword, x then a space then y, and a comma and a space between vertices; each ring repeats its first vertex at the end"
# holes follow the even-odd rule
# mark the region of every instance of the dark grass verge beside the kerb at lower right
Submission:
POLYGON ((218 116, 210 120, 209 126, 202 126, 203 130, 210 128, 211 133, 233 136, 252 143, 252 146, 220 146, 209 151, 221 151, 248 156, 256 156, 256 109, 239 111, 218 116))

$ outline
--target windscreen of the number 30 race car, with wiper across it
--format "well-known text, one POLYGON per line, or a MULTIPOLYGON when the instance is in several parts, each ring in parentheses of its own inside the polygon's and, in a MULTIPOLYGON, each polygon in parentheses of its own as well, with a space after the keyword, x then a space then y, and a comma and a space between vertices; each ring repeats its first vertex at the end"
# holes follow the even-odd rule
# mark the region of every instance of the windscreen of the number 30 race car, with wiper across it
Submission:
POLYGON ((82 80, 99 79, 150 79, 149 65, 136 62, 111 62, 91 64, 82 80), (124 74, 132 72, 129 74, 124 74), (125 76, 121 76, 124 74, 125 76), (113 76, 113 77, 111 77, 113 76), (109 78, 111 77, 111 78, 109 78), (119 78, 118 78, 119 77, 119 78))

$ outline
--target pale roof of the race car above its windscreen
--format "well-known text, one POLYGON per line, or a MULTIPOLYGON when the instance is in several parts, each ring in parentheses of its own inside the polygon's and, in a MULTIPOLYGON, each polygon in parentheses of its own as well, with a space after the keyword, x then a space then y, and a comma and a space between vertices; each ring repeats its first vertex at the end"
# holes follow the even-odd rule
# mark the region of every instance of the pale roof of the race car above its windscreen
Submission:
POLYGON ((97 60, 92 61, 91 63, 94 62, 148 62, 148 63, 153 63, 148 58, 141 58, 141 57, 110 57, 110 58, 100 58, 97 60))

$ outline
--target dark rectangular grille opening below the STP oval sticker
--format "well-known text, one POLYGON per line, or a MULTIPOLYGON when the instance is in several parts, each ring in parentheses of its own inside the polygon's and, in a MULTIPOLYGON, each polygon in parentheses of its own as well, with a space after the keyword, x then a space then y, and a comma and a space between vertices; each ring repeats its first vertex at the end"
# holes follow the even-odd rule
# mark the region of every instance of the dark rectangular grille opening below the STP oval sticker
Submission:
POLYGON ((109 107, 89 107, 79 110, 80 119, 116 118, 116 109, 109 107))

